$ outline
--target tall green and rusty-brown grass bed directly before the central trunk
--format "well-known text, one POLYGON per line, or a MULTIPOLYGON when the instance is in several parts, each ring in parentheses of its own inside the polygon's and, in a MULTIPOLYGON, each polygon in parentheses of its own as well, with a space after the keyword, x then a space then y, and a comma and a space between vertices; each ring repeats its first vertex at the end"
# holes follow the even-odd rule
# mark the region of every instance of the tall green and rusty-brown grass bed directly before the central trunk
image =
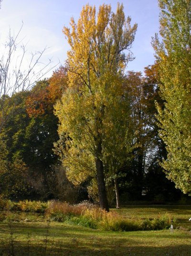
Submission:
POLYGON ((53 221, 82 225, 93 229, 111 231, 160 230, 170 227, 170 215, 158 219, 129 219, 117 212, 106 212, 95 205, 81 203, 69 205, 53 201, 46 213, 53 221))

